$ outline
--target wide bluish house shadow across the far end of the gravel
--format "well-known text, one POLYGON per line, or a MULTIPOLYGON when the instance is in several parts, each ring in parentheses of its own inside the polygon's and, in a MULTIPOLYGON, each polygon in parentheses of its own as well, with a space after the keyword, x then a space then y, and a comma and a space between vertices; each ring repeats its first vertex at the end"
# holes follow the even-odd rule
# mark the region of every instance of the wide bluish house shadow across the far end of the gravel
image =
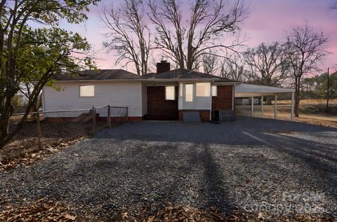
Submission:
MULTIPOLYGON (((95 138, 139 139, 144 141, 168 141, 190 142, 207 144, 223 144, 234 146, 258 146, 263 145, 244 132, 282 133, 282 132, 337 132, 337 128, 306 123, 289 122, 286 120, 274 120, 268 118, 238 117, 232 122, 224 122, 218 125, 212 123, 185 124, 157 121, 143 121, 140 123, 126 123, 121 127, 103 130, 96 134, 95 138)), ((324 136, 324 134, 322 134, 324 136)), ((329 136, 326 136, 329 137, 329 136)))

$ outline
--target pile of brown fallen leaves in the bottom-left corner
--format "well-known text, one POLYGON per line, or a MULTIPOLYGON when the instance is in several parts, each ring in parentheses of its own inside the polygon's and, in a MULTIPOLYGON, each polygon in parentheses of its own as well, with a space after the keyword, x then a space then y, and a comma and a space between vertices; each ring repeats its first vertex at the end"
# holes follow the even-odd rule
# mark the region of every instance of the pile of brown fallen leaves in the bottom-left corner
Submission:
POLYGON ((0 221, 75 221, 70 207, 62 202, 39 199, 23 206, 8 205, 0 211, 0 221))

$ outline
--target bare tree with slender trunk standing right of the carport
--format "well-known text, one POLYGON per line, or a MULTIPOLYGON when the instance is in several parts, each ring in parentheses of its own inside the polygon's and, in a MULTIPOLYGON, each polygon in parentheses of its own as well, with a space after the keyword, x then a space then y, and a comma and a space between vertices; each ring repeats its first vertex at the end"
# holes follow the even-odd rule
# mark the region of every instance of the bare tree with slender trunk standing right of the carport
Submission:
POLYGON ((295 116, 298 117, 300 105, 301 78, 313 71, 320 71, 319 64, 328 54, 324 50, 328 38, 321 32, 315 32, 306 23, 303 27, 293 29, 286 36, 286 59, 291 67, 291 78, 295 86, 295 116))

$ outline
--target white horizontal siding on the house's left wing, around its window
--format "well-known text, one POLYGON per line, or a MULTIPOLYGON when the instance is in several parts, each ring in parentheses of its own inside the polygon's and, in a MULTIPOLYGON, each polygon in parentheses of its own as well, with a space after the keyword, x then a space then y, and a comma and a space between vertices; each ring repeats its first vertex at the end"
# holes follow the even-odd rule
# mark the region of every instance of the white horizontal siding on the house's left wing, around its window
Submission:
POLYGON ((44 111, 127 106, 128 116, 143 116, 142 83, 57 83, 60 91, 44 88, 44 111), (80 85, 95 85, 95 97, 79 97, 80 85))

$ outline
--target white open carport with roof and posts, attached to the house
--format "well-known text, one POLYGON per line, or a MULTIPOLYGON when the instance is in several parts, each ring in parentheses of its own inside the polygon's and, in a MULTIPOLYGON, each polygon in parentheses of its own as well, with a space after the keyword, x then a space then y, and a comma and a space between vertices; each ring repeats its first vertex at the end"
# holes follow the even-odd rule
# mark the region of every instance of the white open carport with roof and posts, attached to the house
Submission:
POLYGON ((235 98, 251 98, 251 116, 254 115, 254 97, 261 99, 261 112, 263 113, 263 97, 274 96, 274 118, 277 118, 277 95, 291 93, 291 121, 293 121, 293 109, 295 105, 295 90, 290 88, 280 88, 267 85, 254 85, 247 83, 237 83, 235 85, 235 98))

